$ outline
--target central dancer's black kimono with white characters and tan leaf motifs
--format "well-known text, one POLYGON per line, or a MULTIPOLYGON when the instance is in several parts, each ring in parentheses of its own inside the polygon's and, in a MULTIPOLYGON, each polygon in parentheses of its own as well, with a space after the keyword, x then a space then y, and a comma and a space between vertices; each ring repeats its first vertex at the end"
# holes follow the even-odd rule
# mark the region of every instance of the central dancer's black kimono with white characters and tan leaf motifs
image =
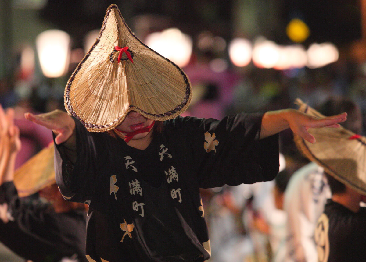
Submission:
POLYGON ((56 146, 64 198, 89 204, 89 261, 205 261, 210 242, 199 188, 273 179, 278 136, 259 140, 263 113, 164 122, 145 150, 75 119, 77 160, 56 146))

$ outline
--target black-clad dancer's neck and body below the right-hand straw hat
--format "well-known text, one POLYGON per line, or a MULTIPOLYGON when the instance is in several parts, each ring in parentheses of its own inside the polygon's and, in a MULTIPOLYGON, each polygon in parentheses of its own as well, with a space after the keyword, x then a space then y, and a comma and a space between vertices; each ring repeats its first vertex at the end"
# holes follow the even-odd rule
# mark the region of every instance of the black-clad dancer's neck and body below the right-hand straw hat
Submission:
POLYGON ((325 174, 332 198, 327 200, 315 230, 318 261, 365 261, 366 207, 360 204, 366 201, 366 188, 355 190, 325 174))

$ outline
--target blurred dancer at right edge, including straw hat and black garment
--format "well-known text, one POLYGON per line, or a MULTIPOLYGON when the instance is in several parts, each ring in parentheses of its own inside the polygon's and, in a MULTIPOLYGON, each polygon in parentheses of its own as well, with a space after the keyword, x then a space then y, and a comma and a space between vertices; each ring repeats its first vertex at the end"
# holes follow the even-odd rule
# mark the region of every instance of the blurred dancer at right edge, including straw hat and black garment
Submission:
MULTIPOLYGON (((300 111, 314 117, 322 116, 306 103, 300 100, 298 103, 300 111)), ((359 117, 355 119, 360 120, 359 117)), ((350 127, 358 127, 356 129, 360 131, 361 121, 351 120, 352 117, 347 120, 350 127)), ((366 195, 366 138, 342 126, 333 130, 313 129, 309 133, 317 140, 316 145, 295 136, 296 145, 310 160, 324 168, 332 191, 332 198, 326 201, 324 212, 315 227, 317 261, 363 261, 365 251, 363 245, 358 243, 365 238, 365 210, 360 208, 360 204, 363 195, 366 195)))

